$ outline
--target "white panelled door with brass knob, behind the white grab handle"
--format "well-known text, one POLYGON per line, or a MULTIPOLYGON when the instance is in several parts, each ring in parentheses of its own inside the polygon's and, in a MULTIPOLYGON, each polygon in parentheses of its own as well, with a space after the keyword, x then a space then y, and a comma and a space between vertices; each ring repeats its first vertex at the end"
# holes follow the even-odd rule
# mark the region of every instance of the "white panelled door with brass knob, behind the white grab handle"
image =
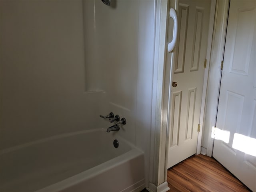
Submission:
POLYGON ((168 168, 196 153, 210 0, 179 0, 168 168))

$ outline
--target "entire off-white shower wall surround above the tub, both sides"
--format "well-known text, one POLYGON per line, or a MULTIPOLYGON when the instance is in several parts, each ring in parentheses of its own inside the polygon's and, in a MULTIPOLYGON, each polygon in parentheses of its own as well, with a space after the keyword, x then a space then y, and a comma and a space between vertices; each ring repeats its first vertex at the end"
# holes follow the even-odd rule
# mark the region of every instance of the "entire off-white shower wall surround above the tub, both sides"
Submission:
MULTIPOLYGON (((155 0, 1 0, 0 150, 107 128, 150 159, 155 0)), ((148 184, 147 184, 148 185, 148 184)))

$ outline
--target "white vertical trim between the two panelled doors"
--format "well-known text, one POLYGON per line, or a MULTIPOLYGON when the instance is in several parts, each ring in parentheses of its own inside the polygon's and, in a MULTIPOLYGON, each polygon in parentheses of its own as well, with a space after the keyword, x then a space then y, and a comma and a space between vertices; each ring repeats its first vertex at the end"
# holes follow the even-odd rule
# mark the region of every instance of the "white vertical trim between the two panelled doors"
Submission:
POLYGON ((228 22, 228 8, 230 0, 217 0, 212 37, 212 50, 210 53, 210 70, 206 90, 204 135, 202 154, 212 156, 214 138, 212 130, 216 126, 218 96, 220 90, 221 63, 224 58, 226 29, 228 22))

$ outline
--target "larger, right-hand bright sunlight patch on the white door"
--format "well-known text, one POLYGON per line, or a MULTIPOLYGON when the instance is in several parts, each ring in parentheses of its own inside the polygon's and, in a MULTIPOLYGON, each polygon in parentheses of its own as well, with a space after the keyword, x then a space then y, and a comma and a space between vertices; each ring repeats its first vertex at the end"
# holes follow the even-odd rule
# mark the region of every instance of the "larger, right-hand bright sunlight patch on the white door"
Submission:
POLYGON ((232 147, 246 154, 256 157, 256 138, 235 133, 232 147))

